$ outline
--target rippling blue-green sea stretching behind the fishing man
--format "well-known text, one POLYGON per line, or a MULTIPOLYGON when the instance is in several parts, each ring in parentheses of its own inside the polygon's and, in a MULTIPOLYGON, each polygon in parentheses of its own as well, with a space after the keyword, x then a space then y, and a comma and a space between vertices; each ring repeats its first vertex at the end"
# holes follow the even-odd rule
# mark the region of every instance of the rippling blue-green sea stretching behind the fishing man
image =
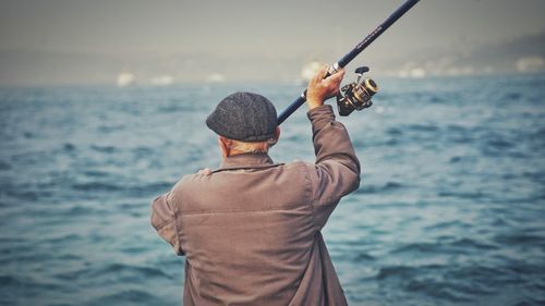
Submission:
MULTIPOLYGON (((338 118, 362 184, 323 230, 349 305, 545 305, 545 75, 375 81, 373 107, 338 118)), ((181 305, 150 201, 219 166, 221 98, 280 111, 303 87, 0 88, 0 305, 181 305)), ((275 161, 314 161, 305 112, 275 161)))

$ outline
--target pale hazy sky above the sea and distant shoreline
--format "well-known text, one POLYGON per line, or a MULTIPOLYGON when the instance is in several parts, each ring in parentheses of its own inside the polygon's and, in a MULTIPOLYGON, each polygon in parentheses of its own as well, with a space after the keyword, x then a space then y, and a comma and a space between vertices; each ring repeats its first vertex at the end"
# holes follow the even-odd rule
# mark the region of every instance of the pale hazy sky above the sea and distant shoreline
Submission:
MULTIPOLYGON (((215 72, 295 77, 312 59, 338 60, 401 3, 0 0, 0 83, 108 83, 121 71, 197 82, 215 72)), ((424 54, 452 63, 452 54, 521 37, 543 40, 544 13, 543 0, 422 0, 359 61, 391 70, 424 54)))

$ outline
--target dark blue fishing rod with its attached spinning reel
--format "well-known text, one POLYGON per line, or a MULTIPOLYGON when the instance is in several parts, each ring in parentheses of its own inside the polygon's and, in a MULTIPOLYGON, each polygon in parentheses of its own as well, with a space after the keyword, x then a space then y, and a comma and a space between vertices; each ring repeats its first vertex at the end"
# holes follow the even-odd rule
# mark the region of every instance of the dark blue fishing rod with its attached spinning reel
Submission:
MULTIPOLYGON (((367 46, 371 45, 380 34, 383 34, 390 25, 392 25, 397 20, 399 20, 404 13, 407 13, 416 2, 420 0, 407 0, 399 9, 397 9, 391 15, 383 22, 375 30, 365 37, 360 44, 358 44, 354 49, 348 52, 342 59, 331 65, 324 78, 336 73, 340 69, 343 69, 350 61, 352 61, 358 54, 360 54, 367 46)), ((371 107, 371 97, 377 93, 378 87, 376 83, 371 78, 365 78, 364 82, 360 83, 360 78, 363 73, 367 72, 368 68, 362 66, 355 70, 358 74, 358 81, 355 83, 349 84, 341 88, 339 95, 337 96, 337 106, 339 108, 340 115, 349 115, 353 110, 362 110, 364 108, 371 107)), ((280 125, 288 117, 290 117, 296 109, 299 109, 306 101, 306 90, 301 94, 291 105, 283 110, 278 117, 278 125, 280 125)))

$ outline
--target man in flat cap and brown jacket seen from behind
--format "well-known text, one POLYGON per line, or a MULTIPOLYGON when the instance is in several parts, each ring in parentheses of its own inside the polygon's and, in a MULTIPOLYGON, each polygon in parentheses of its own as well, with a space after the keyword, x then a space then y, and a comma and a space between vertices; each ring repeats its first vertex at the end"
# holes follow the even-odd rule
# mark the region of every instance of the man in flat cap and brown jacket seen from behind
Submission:
POLYGON ((306 93, 316 163, 274 163, 275 107, 237 93, 206 120, 219 135, 221 167, 186 175, 154 200, 152 224, 186 258, 184 306, 347 305, 320 230, 359 187, 360 163, 324 105, 344 71, 323 79, 326 71, 306 93))

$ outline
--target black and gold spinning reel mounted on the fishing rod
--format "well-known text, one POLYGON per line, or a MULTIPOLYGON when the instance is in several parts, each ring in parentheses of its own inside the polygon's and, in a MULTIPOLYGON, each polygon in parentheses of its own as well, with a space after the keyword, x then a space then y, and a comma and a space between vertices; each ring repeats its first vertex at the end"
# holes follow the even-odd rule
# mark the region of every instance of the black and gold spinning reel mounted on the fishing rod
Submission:
POLYGON ((337 94, 337 107, 339 114, 347 117, 354 110, 363 110, 373 105, 371 98, 378 91, 375 81, 366 77, 361 83, 362 75, 370 71, 368 66, 358 68, 354 72, 358 79, 354 83, 342 86, 337 94))

